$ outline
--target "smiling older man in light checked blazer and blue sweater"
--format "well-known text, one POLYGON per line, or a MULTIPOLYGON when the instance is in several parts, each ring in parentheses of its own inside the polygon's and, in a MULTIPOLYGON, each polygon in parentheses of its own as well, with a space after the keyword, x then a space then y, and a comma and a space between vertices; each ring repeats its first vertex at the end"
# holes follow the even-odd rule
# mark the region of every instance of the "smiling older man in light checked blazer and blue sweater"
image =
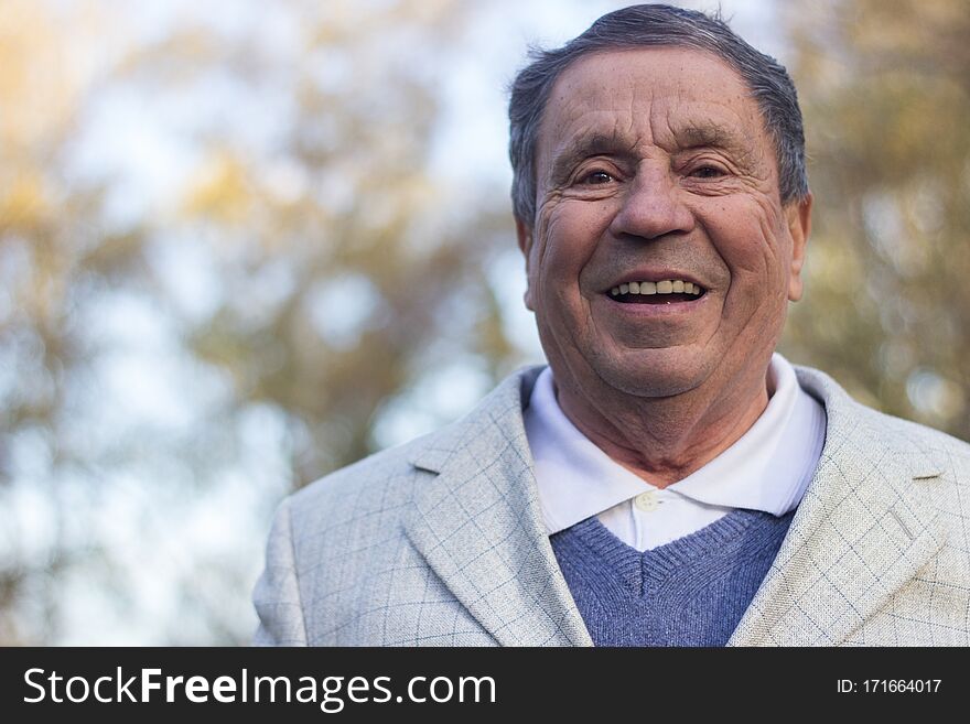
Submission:
POLYGON ((287 499, 256 642, 970 644, 970 446, 774 353, 811 212, 785 69, 637 6, 509 117, 549 366, 287 499))

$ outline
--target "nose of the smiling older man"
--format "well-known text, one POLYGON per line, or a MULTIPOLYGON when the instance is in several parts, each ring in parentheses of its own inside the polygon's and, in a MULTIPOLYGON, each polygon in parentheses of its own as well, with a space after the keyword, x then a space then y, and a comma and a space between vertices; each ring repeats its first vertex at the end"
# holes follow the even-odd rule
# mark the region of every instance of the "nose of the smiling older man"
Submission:
POLYGON ((694 218, 685 203, 685 191, 668 169, 640 168, 623 196, 623 206, 610 225, 616 238, 655 239, 667 234, 687 233, 694 218))

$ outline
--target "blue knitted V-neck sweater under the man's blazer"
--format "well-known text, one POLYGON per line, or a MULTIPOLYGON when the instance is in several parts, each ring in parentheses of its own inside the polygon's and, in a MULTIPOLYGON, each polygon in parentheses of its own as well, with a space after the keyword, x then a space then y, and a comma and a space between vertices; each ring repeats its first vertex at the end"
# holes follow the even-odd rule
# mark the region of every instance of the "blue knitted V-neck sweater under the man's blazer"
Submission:
POLYGON ((644 552, 594 516, 550 542, 596 646, 724 646, 794 515, 733 510, 644 552))

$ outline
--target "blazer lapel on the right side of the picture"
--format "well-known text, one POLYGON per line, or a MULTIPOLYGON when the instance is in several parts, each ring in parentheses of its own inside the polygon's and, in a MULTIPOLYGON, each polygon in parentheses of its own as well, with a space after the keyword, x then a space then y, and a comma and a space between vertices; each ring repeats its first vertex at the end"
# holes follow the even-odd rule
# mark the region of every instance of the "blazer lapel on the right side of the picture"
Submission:
POLYGON ((844 641, 944 543, 924 500, 941 467, 831 378, 797 368, 826 442, 788 536, 729 646, 844 641))

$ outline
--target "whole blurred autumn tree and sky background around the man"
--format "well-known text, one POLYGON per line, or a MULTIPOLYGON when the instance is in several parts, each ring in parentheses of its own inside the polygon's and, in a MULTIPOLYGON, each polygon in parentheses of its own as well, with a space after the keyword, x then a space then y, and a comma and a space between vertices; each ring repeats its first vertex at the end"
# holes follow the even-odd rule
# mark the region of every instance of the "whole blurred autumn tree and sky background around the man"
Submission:
MULTIPOLYGON (((0 644, 246 642, 283 495, 541 360, 505 88, 622 4, 0 0, 0 644)), ((784 352, 970 437, 970 7, 720 4, 807 119, 784 352)))

